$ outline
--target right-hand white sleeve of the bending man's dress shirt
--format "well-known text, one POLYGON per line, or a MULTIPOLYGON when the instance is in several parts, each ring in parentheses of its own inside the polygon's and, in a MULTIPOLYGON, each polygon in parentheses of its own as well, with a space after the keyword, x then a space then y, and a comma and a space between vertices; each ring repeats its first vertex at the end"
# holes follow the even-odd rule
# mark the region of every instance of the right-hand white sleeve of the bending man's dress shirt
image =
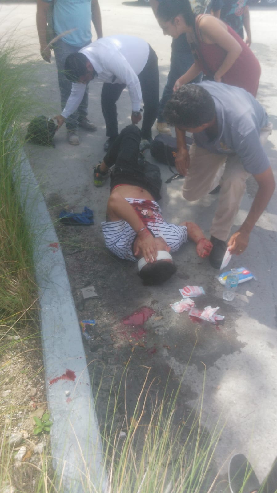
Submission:
POLYGON ((140 82, 138 75, 126 58, 118 50, 112 50, 102 63, 104 70, 113 73, 122 84, 126 84, 132 101, 132 111, 139 111, 141 102, 140 82))

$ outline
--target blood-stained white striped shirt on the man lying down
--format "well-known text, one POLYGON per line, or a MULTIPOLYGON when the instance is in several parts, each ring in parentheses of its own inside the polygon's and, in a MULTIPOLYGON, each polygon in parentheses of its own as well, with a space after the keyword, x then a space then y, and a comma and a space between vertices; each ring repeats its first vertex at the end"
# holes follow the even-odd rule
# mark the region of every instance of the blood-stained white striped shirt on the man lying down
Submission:
MULTIPOLYGON (((157 238, 161 236, 171 248, 171 253, 177 251, 179 247, 187 242, 187 228, 176 226, 164 220, 161 209, 157 202, 152 200, 126 198, 131 204, 143 223, 150 229, 157 238)), ((118 221, 101 223, 104 233, 105 245, 120 258, 137 262, 132 246, 137 233, 128 224, 120 219, 118 221)))

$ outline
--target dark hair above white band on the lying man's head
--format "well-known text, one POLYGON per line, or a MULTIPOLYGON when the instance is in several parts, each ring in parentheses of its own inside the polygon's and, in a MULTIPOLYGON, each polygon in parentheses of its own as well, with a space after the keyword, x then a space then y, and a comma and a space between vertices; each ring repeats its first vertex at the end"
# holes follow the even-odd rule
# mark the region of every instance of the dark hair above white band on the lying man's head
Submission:
POLYGON ((142 267, 138 276, 142 279, 144 286, 157 286, 167 281, 176 272, 177 268, 173 262, 157 260, 142 267))

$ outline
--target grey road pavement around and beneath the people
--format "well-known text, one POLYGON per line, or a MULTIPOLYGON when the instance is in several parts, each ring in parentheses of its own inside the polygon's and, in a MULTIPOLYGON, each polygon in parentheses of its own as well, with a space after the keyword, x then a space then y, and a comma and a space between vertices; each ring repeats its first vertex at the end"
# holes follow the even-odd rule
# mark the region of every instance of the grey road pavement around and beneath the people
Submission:
MULTIPOLYGON (((100 0, 100 4, 104 35, 138 35, 155 49, 162 90, 169 70, 171 39, 162 34, 151 9, 137 1, 100 0)), ((4 2, 0 13, 1 38, 14 36, 20 54, 32 58, 34 81, 37 80, 34 92, 41 98, 40 113, 57 114, 60 108, 55 63, 48 65, 40 59, 34 2, 4 2)), ((251 48, 262 67, 258 100, 266 107, 274 125, 266 150, 277 179, 276 25, 276 8, 257 6, 251 9, 251 48)), ((105 218, 109 188, 108 184, 102 189, 92 185, 92 165, 104 154, 100 92, 101 84, 91 84, 89 118, 98 125, 98 132, 89 135, 80 131, 79 146, 72 147, 67 143, 64 128, 55 137, 55 149, 28 145, 35 175, 53 218, 65 205, 76 211, 86 205, 95 212, 96 224, 86 231, 57 227, 60 240, 65 242, 64 252, 78 315, 97 320, 94 343, 86 346, 88 359, 103 360, 110 375, 113 371, 122 372, 126 359, 132 356, 128 382, 131 407, 143 378, 142 365, 152 367, 152 376, 159 378, 161 391, 169 373, 172 387, 184 375, 179 416, 198 401, 206 367, 203 420, 210 417, 215 423, 222 416, 226 420, 217 448, 218 466, 232 452, 242 452, 251 459, 259 479, 263 479, 277 455, 277 192, 255 226, 247 250, 231 261, 231 267, 246 267, 256 276, 256 281, 238 287, 233 302, 222 300, 216 271, 208 261, 196 256, 193 245, 183 246, 175 255, 178 274, 174 279, 163 287, 142 287, 136 266, 107 255, 104 248, 100 223, 105 218), (72 244, 76 253, 72 253, 72 244), (90 283, 95 285, 98 298, 82 303, 79 289, 90 283), (186 314, 175 314, 169 307, 180 299, 178 289, 186 284, 205 288, 206 296, 199 299, 199 306, 220 306, 219 312, 225 315, 225 323, 218 327, 219 330, 206 323, 193 323, 186 314), (128 331, 124 334, 118 330, 118 324, 142 306, 152 308, 156 314, 144 324, 144 333, 138 336, 142 345, 136 346, 137 335, 128 331), (162 318, 154 320, 154 317, 162 318)), ((130 123, 130 112, 129 96, 125 91, 118 104, 120 128, 130 123)), ((164 181, 170 175, 165 167, 162 175, 164 181)), ((216 196, 186 203, 180 193, 181 183, 182 180, 176 180, 169 185, 163 184, 161 207, 165 218, 171 222, 193 220, 208 234, 216 196)), ((233 231, 247 214, 254 193, 255 183, 250 180, 233 231)))

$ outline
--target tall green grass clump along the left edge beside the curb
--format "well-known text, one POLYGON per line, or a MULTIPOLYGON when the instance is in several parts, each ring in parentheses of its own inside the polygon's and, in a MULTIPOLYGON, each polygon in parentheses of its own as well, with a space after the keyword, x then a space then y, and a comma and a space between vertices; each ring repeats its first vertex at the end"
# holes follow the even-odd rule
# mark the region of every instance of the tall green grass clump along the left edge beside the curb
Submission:
POLYGON ((6 329, 16 320, 27 322, 36 295, 33 242, 19 201, 18 173, 24 144, 21 124, 32 111, 31 73, 16 52, 7 44, 0 49, 0 325, 6 329))

